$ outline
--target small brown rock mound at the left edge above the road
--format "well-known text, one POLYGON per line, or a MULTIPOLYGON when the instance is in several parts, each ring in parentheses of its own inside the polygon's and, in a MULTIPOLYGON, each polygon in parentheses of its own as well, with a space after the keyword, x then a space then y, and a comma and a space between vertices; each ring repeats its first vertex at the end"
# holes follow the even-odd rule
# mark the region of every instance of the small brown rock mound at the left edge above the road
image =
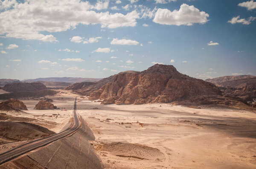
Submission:
POLYGON ((0 110, 28 110, 26 105, 18 99, 9 99, 0 103, 0 110))

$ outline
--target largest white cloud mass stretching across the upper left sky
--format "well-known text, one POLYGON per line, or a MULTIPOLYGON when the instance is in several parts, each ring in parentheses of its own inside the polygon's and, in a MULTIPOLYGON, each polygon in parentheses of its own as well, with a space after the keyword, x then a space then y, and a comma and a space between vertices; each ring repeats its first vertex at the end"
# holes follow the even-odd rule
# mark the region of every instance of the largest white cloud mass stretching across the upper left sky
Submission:
POLYGON ((75 29, 79 24, 100 24, 102 28, 134 27, 136 19, 140 18, 136 10, 127 14, 91 10, 107 7, 108 1, 98 1, 95 5, 81 0, 19 1, 0 13, 0 34, 5 34, 5 37, 54 42, 58 40, 52 32, 75 29))

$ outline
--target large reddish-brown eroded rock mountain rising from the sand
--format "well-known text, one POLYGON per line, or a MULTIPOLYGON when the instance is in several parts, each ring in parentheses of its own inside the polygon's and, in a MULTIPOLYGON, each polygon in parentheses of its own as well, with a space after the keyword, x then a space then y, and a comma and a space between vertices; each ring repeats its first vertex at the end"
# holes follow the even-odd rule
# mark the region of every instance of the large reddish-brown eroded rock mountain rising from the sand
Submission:
POLYGON ((172 65, 154 65, 142 72, 124 72, 92 92, 102 104, 169 103, 191 96, 221 95, 212 83, 179 73, 172 65), (113 101, 114 100, 114 101, 113 101))

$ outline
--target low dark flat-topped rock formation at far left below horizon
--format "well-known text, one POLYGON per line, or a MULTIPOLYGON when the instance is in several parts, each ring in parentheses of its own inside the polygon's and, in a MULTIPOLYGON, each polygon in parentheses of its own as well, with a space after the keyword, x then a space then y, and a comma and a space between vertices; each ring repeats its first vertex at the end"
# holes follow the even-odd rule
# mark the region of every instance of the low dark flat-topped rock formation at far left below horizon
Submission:
POLYGON ((33 92, 39 90, 45 90, 47 87, 40 82, 32 82, 32 83, 12 83, 7 84, 3 87, 3 90, 11 93, 15 92, 33 92))

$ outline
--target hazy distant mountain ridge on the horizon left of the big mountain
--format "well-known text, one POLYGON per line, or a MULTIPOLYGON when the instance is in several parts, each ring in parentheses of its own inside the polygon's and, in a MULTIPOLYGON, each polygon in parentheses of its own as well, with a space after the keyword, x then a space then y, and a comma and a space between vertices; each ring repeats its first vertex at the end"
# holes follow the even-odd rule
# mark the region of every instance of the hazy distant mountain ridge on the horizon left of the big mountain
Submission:
POLYGON ((38 79, 26 79, 23 82, 69 82, 69 83, 78 83, 78 82, 97 82, 100 79, 96 78, 80 78, 80 77, 47 77, 47 78, 38 78, 38 79))

